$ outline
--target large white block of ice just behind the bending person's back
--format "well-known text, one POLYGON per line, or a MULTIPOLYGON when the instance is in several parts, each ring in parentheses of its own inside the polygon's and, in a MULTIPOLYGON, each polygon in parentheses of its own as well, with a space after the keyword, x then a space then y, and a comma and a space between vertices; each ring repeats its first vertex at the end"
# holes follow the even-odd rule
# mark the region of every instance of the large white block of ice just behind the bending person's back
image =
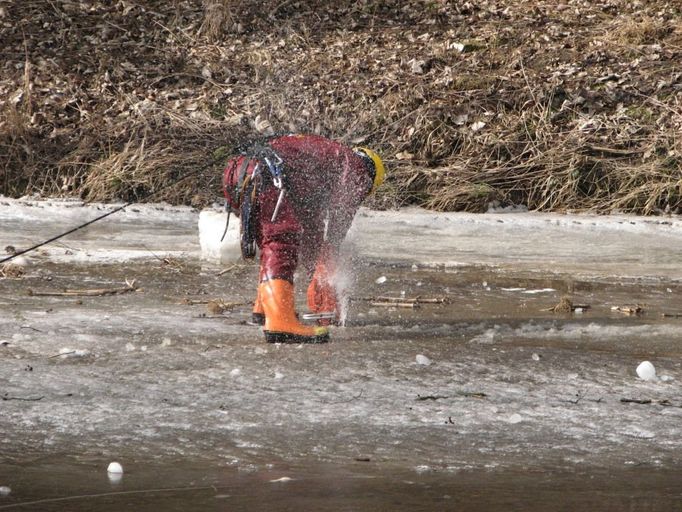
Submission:
POLYGON ((221 242, 226 222, 226 212, 203 210, 199 213, 199 245, 202 259, 218 263, 236 263, 241 260, 239 218, 230 215, 230 225, 221 242))

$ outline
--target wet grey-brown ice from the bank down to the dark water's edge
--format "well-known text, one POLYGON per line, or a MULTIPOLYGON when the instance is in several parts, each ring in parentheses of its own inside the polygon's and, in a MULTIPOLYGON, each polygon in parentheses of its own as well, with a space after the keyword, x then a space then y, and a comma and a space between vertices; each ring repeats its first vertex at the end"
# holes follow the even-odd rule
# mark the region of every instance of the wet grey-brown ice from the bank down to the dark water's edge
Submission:
MULTIPOLYGON (((0 246, 26 246, 95 213, 8 203, 0 246)), ((348 241, 357 265, 351 293, 447 294, 451 303, 391 311, 354 301, 348 327, 321 347, 266 345, 243 323, 250 305, 207 318, 204 306, 180 304, 248 303, 257 278, 248 265, 219 276, 224 266, 202 260, 199 220, 199 212, 167 206, 122 212, 64 240, 71 254, 50 246, 32 257, 26 277, 2 281, 0 332, 11 342, 0 351, 0 391, 17 399, 0 402, 3 454, 101 448, 106 457, 181 454, 246 468, 362 453, 456 471, 557 460, 616 466, 633 454, 672 464, 682 449, 680 409, 658 405, 681 405, 682 325, 656 314, 682 309, 678 219, 671 229, 640 218, 362 210, 348 241), (166 256, 184 267, 164 265, 166 256), (144 290, 81 304, 23 293, 132 276, 144 290), (592 308, 544 311, 569 286, 592 308), (610 311, 634 298, 652 312, 610 311), (60 348, 91 357, 49 359, 60 348), (415 354, 438 364, 420 365, 415 354), (674 380, 635 378, 645 358, 674 380)))

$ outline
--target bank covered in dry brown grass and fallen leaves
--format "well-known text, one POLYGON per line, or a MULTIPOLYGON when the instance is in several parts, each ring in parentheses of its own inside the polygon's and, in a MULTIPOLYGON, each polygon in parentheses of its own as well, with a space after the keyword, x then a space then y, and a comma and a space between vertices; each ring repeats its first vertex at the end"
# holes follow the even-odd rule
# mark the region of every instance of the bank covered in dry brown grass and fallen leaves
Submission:
MULTIPOLYGON (((568 4, 119 3, 97 7, 125 28, 105 37, 102 12, 17 3, 1 192, 134 200, 247 136, 306 131, 380 150, 375 207, 682 211, 682 12, 568 4), (52 47, 62 68, 40 64, 52 47)), ((219 168, 155 199, 210 202, 219 168)))

